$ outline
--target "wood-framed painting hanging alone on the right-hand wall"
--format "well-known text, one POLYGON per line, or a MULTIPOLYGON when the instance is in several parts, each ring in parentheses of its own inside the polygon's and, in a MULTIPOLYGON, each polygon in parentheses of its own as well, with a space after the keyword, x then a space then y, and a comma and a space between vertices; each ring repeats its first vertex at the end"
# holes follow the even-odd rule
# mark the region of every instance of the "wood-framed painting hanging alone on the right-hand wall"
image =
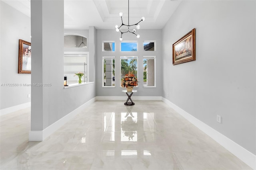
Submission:
POLYGON ((195 28, 172 45, 172 64, 196 60, 195 28))

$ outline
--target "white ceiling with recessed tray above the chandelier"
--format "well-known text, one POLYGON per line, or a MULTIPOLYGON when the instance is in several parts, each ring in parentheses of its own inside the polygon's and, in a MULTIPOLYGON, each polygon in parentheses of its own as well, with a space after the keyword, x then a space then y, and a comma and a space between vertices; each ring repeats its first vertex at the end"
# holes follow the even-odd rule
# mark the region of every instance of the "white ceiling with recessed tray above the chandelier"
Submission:
MULTIPOLYGON (((30 0, 2 0, 30 16, 30 0)), ((141 29, 162 29, 180 4, 180 0, 130 0, 129 23, 134 24, 144 16, 141 29)), ((119 12, 123 12, 128 25, 128 0, 64 0, 65 29, 115 29, 121 25, 119 12)))

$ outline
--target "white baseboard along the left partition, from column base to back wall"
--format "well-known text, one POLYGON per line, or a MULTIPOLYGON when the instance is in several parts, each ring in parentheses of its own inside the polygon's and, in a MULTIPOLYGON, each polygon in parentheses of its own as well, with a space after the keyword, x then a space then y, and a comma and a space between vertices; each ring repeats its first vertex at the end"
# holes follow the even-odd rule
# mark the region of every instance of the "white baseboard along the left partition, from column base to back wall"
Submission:
POLYGON ((42 131, 29 131, 28 140, 29 141, 43 141, 60 127, 62 127, 65 123, 73 119, 78 113, 80 113, 83 109, 92 104, 96 99, 92 98, 82 106, 74 109, 72 112, 68 113, 66 116, 62 117, 58 121, 54 122, 52 125, 46 127, 42 131))

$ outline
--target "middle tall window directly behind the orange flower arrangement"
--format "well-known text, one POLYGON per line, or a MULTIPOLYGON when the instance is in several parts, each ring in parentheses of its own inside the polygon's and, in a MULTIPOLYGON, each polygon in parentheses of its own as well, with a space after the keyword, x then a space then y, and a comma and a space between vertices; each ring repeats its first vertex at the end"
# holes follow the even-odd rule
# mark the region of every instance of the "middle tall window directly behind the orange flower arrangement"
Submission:
POLYGON ((129 72, 138 78, 138 56, 120 57, 120 67, 120 80, 129 72))

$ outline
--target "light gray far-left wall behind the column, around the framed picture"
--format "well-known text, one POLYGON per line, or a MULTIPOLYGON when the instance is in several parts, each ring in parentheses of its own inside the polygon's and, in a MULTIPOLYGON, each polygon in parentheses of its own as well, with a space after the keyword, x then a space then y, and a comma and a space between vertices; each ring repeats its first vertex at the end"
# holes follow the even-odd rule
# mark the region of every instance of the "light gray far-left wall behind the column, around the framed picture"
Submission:
MULTIPOLYGON (((30 40, 30 18, 0 1, 0 82, 30 84, 30 74, 18 74, 19 39, 30 40)), ((0 109, 30 102, 26 86, 0 86, 0 109)))

